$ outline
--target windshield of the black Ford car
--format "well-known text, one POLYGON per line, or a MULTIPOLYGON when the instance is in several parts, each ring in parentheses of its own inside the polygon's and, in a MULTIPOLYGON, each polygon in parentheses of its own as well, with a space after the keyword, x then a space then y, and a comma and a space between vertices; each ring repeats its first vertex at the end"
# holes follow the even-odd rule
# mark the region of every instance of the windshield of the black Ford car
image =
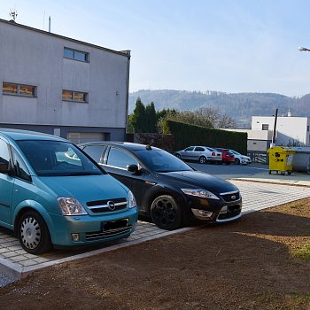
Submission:
POLYGON ((156 172, 170 171, 190 171, 193 170, 190 166, 177 159, 167 151, 162 150, 143 150, 136 151, 145 166, 156 172))

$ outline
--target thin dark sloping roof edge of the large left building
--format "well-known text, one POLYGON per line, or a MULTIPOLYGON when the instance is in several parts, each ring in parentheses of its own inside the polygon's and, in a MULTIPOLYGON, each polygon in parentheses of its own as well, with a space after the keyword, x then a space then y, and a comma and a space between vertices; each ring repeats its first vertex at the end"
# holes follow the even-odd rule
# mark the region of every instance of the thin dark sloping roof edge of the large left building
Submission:
POLYGON ((5 24, 8 24, 8 25, 12 25, 13 27, 21 27, 21 28, 24 28, 24 29, 27 29, 27 30, 30 30, 30 31, 38 32, 38 33, 43 34, 43 35, 50 35, 50 36, 53 36, 53 37, 57 37, 59 39, 64 39, 64 40, 71 41, 71 42, 74 42, 74 43, 83 44, 83 45, 86 45, 86 46, 89 46, 89 47, 92 47, 92 48, 96 48, 96 49, 99 49, 99 50, 105 50, 105 51, 108 51, 108 52, 111 52, 111 53, 114 53, 114 54, 118 54, 120 56, 125 56, 127 58, 130 58, 130 50, 111 50, 111 49, 107 49, 107 48, 99 46, 99 45, 95 45, 95 44, 91 44, 91 43, 86 43, 86 42, 82 42, 82 41, 79 41, 79 40, 75 40, 73 38, 69 38, 69 37, 64 36, 64 35, 56 35, 56 34, 53 34, 51 32, 48 32, 48 31, 44 31, 44 30, 37 29, 37 28, 34 28, 34 27, 28 27, 28 26, 25 26, 25 25, 21 25, 21 24, 16 23, 14 20, 0 19, 0 23, 5 23, 5 24))

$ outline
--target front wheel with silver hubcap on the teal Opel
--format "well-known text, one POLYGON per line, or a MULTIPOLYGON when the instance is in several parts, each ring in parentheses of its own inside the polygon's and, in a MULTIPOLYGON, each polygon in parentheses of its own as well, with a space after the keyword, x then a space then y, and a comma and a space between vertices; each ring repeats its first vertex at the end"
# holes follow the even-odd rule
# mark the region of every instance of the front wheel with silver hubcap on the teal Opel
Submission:
POLYGON ((21 247, 28 253, 37 255, 51 248, 49 229, 43 217, 35 211, 28 211, 21 216, 18 236, 21 247))

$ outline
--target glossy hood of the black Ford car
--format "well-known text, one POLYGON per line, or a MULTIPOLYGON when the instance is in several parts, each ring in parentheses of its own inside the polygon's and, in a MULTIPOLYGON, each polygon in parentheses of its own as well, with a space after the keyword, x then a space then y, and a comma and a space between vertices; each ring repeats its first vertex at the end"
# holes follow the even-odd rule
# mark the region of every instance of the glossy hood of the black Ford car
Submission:
POLYGON ((186 188, 192 188, 194 186, 210 190, 214 194, 238 190, 236 186, 230 182, 200 171, 174 171, 159 174, 163 178, 167 178, 169 182, 174 182, 175 185, 186 188))

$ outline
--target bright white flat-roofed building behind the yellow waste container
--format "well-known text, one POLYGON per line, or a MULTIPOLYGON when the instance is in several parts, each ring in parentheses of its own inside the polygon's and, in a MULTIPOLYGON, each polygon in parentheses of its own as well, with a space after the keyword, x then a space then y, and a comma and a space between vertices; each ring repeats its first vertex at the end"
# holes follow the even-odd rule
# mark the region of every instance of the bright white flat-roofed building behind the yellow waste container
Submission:
MULTIPOLYGON (((290 112, 289 115, 291 115, 290 112)), ((274 126, 274 116, 252 116, 252 130, 272 130, 273 132, 274 126)), ((284 146, 309 146, 309 126, 309 117, 277 117, 275 144, 284 146)))

